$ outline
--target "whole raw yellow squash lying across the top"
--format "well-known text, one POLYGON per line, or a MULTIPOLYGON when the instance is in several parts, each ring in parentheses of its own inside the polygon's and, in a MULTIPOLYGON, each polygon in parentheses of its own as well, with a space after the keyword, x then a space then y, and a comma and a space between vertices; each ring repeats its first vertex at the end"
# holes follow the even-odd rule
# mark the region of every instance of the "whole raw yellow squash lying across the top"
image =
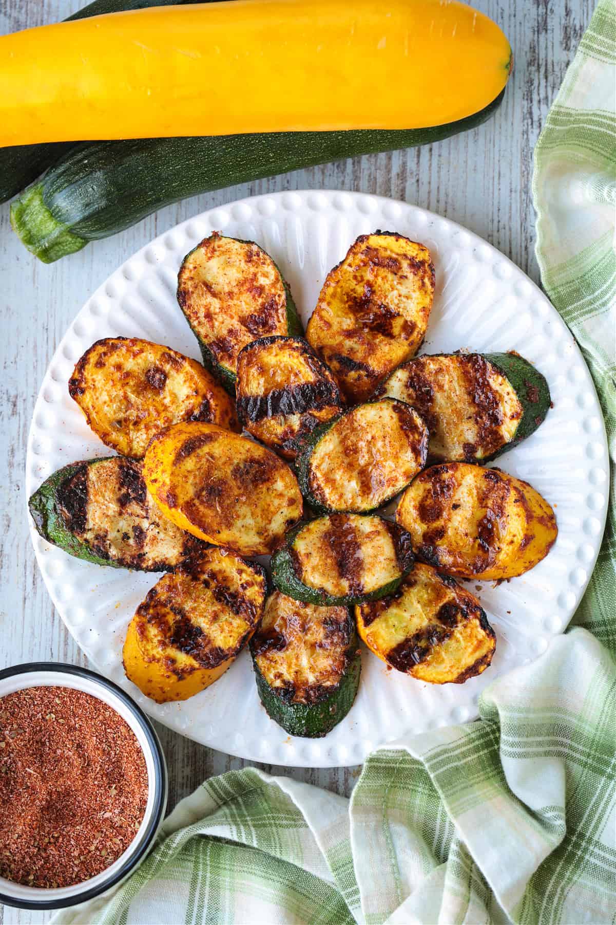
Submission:
POLYGON ((455 0, 114 13, 0 38, 0 146, 421 129, 479 112, 510 69, 501 29, 455 0))

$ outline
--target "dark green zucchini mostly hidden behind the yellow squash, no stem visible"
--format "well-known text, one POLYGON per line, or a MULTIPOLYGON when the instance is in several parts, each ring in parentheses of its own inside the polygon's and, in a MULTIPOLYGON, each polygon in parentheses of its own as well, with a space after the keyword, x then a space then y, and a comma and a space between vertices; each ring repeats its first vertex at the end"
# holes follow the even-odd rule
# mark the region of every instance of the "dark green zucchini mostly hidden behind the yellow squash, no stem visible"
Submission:
MULTIPOLYGON (((126 9, 141 9, 143 6, 172 6, 173 4, 179 6, 202 2, 207 3, 209 0, 94 0, 93 3, 79 9, 77 13, 66 17, 65 21, 103 16, 103 13, 117 13, 126 9)), ((55 142, 18 144, 0 148, 0 203, 6 203, 8 199, 12 199, 18 192, 24 190, 62 154, 66 154, 74 147, 75 142, 55 142)))

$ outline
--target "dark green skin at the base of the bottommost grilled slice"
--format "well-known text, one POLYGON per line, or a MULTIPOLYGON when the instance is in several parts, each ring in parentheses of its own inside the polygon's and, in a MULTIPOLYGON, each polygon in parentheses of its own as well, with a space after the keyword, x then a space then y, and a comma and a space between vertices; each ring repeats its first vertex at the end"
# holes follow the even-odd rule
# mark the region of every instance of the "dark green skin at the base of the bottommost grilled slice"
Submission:
POLYGON ((323 697, 315 704, 291 703, 277 694, 261 674, 253 654, 252 666, 260 701, 268 716, 282 726, 285 733, 311 739, 322 738, 344 720, 355 701, 361 673, 361 652, 357 648, 356 632, 353 636, 344 676, 328 697, 323 697))

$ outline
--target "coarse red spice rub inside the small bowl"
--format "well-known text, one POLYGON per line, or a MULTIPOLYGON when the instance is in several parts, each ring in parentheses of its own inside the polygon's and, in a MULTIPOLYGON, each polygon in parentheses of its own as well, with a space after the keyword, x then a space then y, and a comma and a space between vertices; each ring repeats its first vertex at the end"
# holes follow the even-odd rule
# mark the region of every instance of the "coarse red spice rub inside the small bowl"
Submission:
POLYGON ((68 687, 0 697, 0 876, 89 880, 130 845, 147 799, 143 752, 115 709, 68 687))

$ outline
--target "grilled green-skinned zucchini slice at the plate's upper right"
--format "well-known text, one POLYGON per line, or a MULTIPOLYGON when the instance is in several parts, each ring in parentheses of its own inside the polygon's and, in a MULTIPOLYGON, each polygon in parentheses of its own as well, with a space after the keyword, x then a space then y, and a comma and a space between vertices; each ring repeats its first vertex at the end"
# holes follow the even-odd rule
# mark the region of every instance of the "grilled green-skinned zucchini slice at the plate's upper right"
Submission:
POLYGON ((440 353, 402 364, 375 392, 429 427, 430 462, 486 462, 529 437, 550 408, 544 376, 515 353, 440 353))

